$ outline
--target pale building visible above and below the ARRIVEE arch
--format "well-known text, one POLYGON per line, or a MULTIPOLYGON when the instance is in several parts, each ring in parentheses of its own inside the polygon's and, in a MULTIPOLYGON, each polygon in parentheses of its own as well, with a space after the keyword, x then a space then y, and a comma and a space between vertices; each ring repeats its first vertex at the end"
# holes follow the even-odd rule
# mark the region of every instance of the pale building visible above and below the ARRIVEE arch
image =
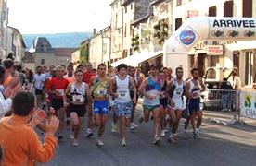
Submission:
MULTIPOLYGON (((256 17, 253 0, 173 0, 173 30, 190 17, 256 17), (198 6, 200 4, 200 6, 198 6)), ((202 77, 207 67, 237 67, 242 85, 251 87, 256 82, 256 41, 200 41, 189 54, 190 67, 198 67, 202 77), (214 45, 218 53, 207 50, 214 45)))

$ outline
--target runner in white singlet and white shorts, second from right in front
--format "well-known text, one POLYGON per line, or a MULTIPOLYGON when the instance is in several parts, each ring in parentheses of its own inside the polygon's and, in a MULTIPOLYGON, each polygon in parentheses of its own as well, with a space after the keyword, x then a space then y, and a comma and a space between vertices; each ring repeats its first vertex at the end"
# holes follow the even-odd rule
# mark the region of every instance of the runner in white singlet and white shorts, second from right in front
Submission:
POLYGON ((183 80, 183 68, 176 68, 176 78, 168 85, 167 96, 170 101, 169 113, 172 117, 173 129, 169 136, 169 141, 174 142, 176 140, 176 132, 178 130, 179 122, 182 112, 184 110, 183 94, 185 91, 185 81, 183 80))

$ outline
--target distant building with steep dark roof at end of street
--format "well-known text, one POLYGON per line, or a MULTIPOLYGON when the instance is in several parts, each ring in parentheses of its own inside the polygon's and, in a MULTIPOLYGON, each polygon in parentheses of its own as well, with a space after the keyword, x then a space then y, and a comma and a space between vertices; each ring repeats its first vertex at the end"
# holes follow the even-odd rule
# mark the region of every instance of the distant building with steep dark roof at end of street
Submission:
POLYGON ((72 53, 77 48, 53 48, 51 43, 45 37, 37 37, 33 41, 30 53, 34 58, 34 65, 68 65, 71 62, 72 53))

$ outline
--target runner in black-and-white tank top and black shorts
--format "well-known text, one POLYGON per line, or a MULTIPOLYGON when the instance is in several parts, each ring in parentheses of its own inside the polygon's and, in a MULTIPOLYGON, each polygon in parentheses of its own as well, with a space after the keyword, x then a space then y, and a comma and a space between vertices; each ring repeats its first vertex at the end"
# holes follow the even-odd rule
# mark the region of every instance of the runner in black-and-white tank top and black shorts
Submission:
POLYGON ((90 97, 90 89, 83 82, 83 70, 76 70, 74 76, 75 81, 69 84, 66 95, 70 103, 70 117, 72 120, 72 131, 74 131, 72 145, 77 147, 79 145, 77 137, 80 134, 85 114, 85 99, 90 97))

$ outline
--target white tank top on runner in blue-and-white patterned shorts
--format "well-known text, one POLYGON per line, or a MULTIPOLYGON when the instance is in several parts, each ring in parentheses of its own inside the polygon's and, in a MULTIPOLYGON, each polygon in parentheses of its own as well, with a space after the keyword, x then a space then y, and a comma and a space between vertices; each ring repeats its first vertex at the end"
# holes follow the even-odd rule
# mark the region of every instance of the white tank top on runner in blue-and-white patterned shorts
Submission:
POLYGON ((118 102, 131 102, 131 96, 130 96, 130 89, 129 89, 129 82, 130 77, 126 76, 124 79, 121 79, 120 77, 115 77, 116 86, 117 86, 117 93, 118 98, 115 99, 115 101, 118 102))

